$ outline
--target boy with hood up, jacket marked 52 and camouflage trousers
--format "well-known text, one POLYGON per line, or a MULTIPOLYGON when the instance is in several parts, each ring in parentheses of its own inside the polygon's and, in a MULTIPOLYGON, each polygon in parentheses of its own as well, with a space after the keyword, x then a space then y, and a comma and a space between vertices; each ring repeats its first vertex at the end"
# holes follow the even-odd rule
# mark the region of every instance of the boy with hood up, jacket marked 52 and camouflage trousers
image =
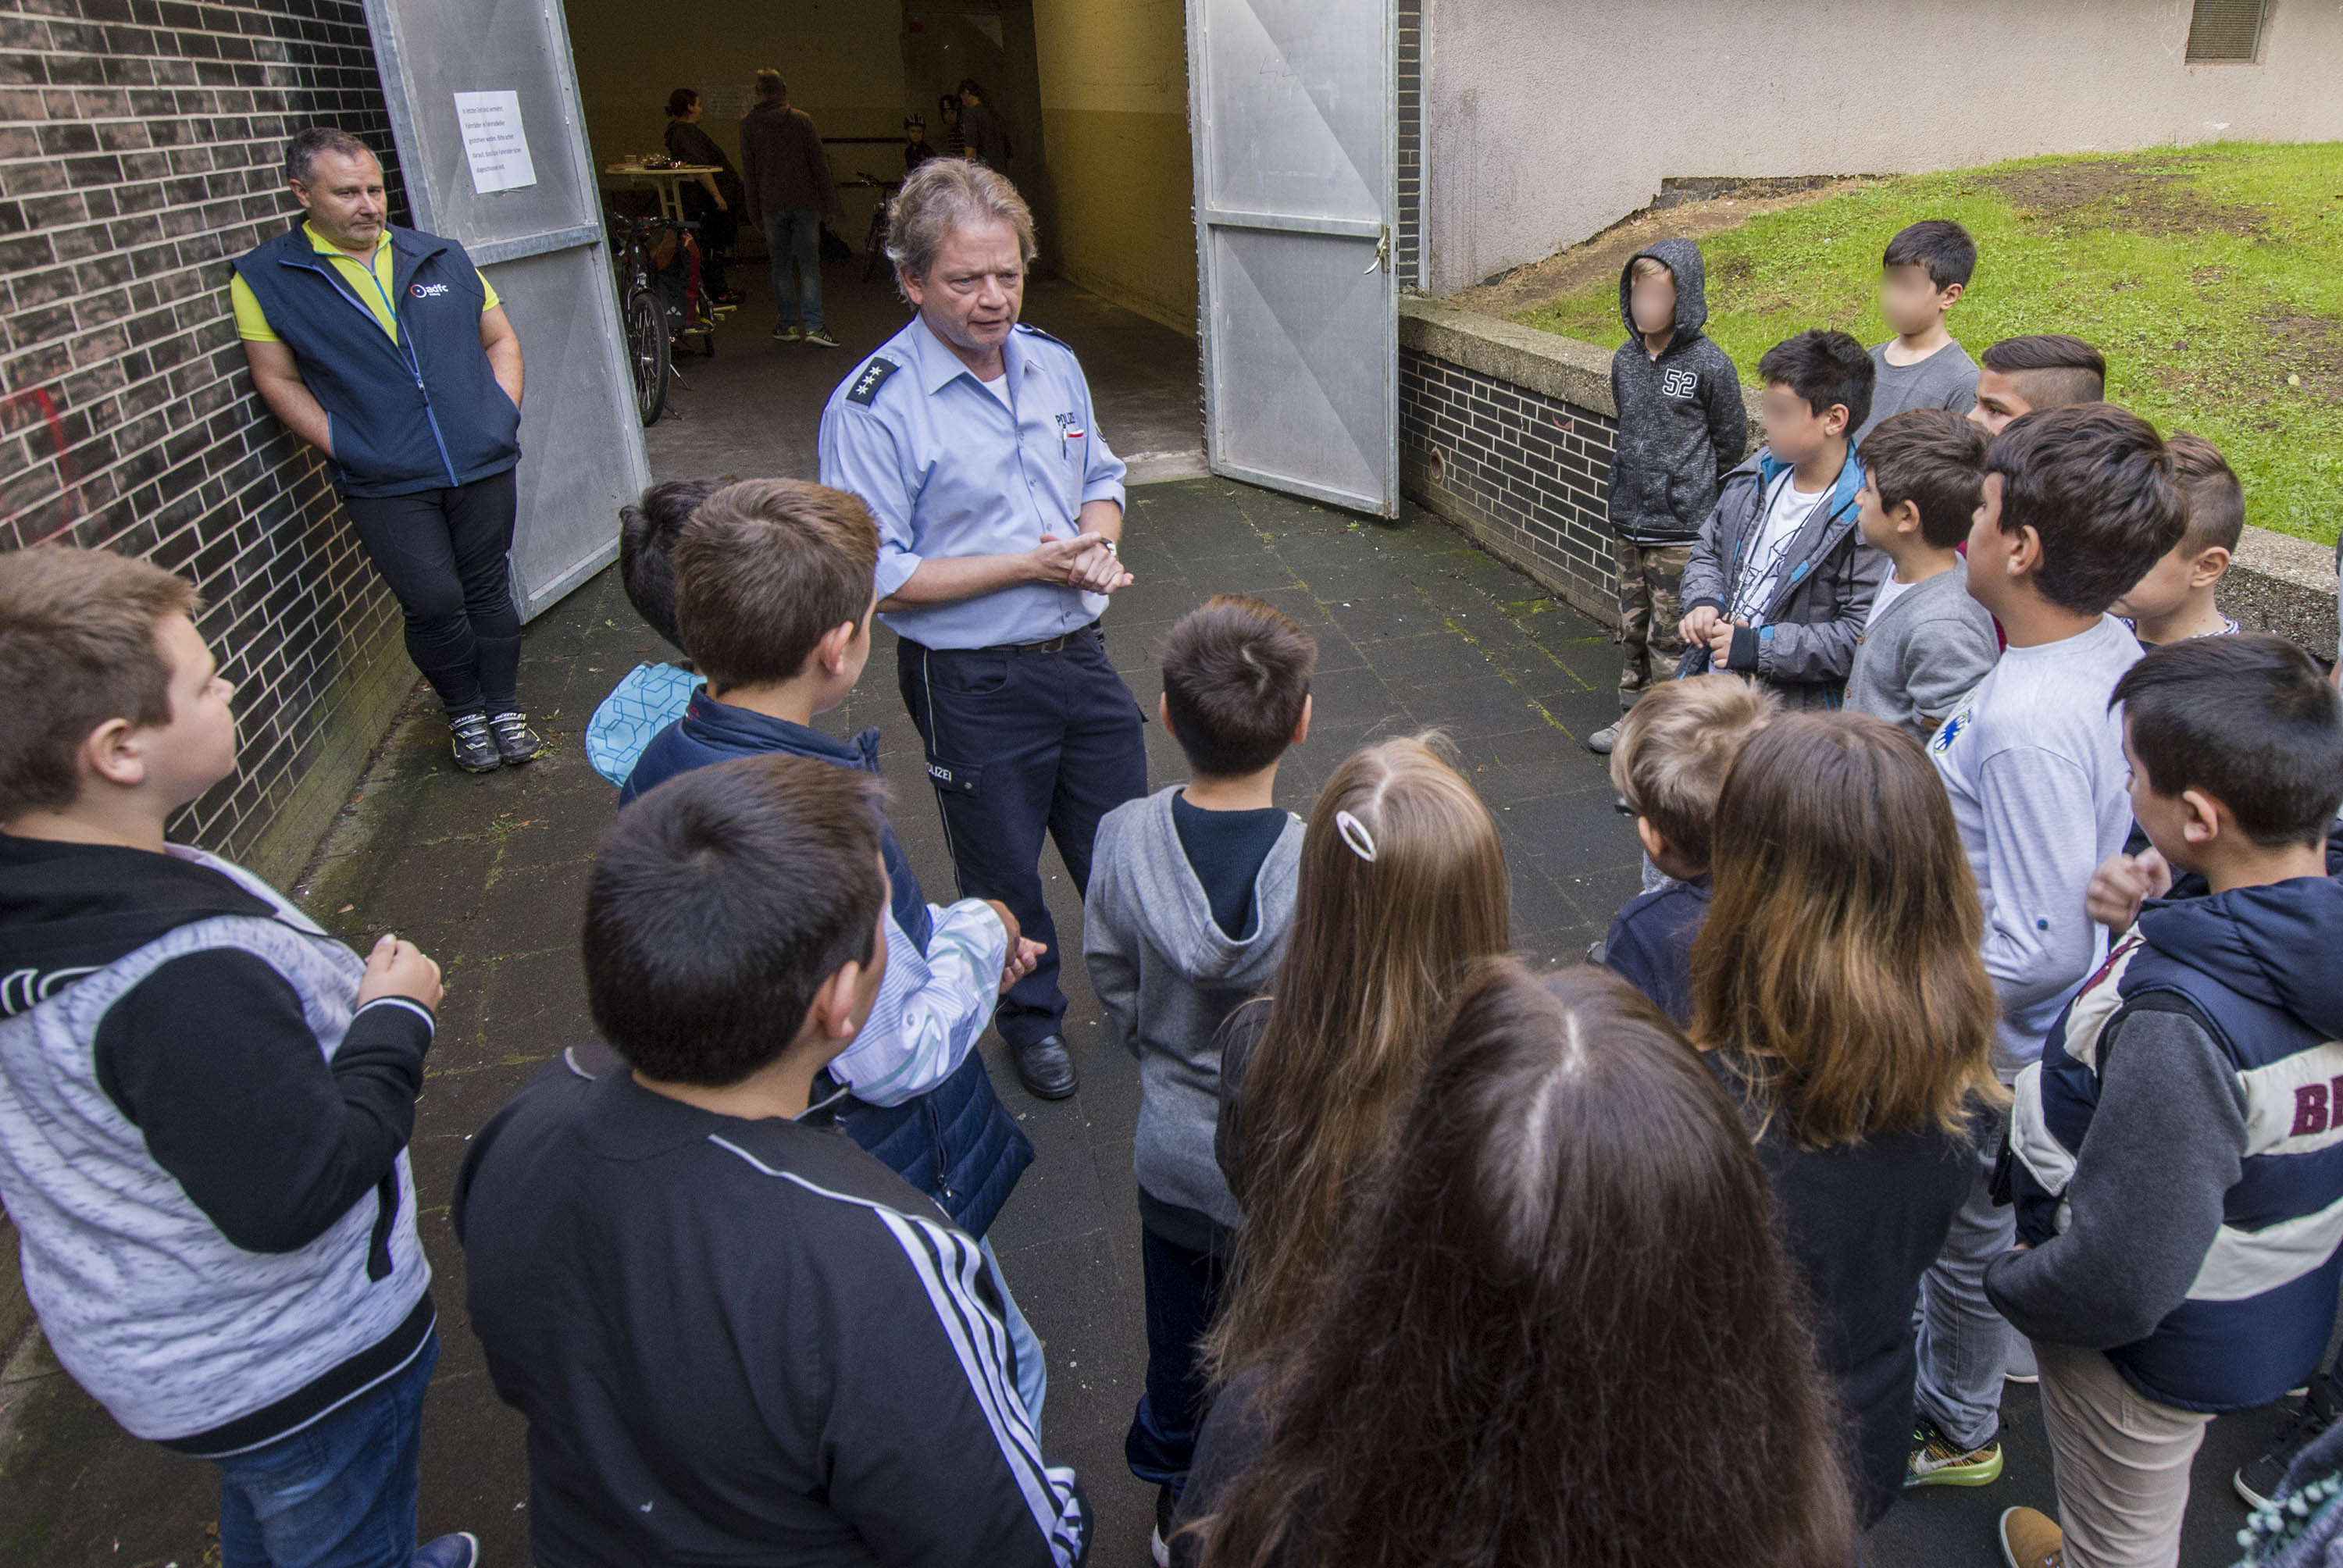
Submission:
MULTIPOLYGON (((1612 405, 1619 443, 1610 469, 1612 558, 1619 567, 1619 713, 1652 684, 1675 673, 1685 654, 1685 563, 1701 523, 1717 504, 1717 485, 1741 462, 1750 438, 1741 373, 1701 335, 1708 321, 1701 246, 1661 239, 1628 258, 1619 272, 1619 319, 1626 342, 1612 354, 1612 405)), ((1610 724, 1586 738, 1607 752, 1619 741, 1610 724)))

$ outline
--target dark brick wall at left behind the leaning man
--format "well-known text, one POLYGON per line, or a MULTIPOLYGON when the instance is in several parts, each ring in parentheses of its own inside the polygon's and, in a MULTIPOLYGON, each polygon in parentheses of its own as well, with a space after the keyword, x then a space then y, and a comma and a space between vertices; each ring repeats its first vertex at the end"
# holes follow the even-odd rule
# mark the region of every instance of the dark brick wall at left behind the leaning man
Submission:
POLYGON ((0 0, 0 548, 73 539, 201 588, 244 750, 178 832, 281 879, 415 682, 227 312, 225 260, 293 211, 302 124, 366 136, 403 206, 358 0, 0 0))

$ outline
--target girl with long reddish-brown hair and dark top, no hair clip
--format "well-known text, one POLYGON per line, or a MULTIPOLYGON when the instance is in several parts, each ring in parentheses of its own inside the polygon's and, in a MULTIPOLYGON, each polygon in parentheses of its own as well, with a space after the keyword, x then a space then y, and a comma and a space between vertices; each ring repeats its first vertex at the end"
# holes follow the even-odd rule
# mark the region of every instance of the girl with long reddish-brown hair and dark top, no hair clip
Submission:
POLYGON ((1776 720, 1717 799, 1692 1038, 1743 1106, 1839 1380, 1870 1526, 1912 1448, 1912 1308, 1994 1080, 1985 912, 1935 769, 1860 713, 1776 720))

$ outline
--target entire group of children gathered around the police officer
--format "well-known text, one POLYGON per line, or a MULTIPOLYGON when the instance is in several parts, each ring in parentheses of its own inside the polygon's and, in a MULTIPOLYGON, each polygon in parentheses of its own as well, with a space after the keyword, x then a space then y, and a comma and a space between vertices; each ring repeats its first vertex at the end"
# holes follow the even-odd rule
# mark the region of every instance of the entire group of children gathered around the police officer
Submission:
MULTIPOLYGON (((1141 1085, 1157 1561, 1858 1561, 1907 1486, 1999 1477, 2022 1336, 2059 1519, 2008 1509, 2006 1561, 2172 1563, 2209 1418, 2317 1366, 2343 705, 2294 645, 2205 635, 2242 518, 2209 445, 2099 401, 2074 340, 1966 384, 1970 263, 1900 234, 1898 340, 1771 349, 1746 462, 1699 251, 1621 279, 1621 464, 1673 466, 1614 478, 1647 642, 1605 745, 1657 886, 1603 966, 1509 956, 1439 736, 1275 804, 1317 661, 1286 614, 1214 598, 1157 647, 1188 778, 1106 816, 1082 923, 1141 1085)), ((928 902, 876 731, 815 727, 872 652, 872 513, 658 485, 621 544, 689 666, 590 729, 626 802, 600 1043, 471 1139, 450 1207, 532 1552, 1078 1563, 984 1240, 1033 1146, 975 1043, 1040 952, 928 902)), ((164 839, 234 766, 194 609, 103 551, 0 558, 26 1289, 124 1427, 220 1465, 225 1561, 469 1568, 412 1545, 438 970, 164 839)))

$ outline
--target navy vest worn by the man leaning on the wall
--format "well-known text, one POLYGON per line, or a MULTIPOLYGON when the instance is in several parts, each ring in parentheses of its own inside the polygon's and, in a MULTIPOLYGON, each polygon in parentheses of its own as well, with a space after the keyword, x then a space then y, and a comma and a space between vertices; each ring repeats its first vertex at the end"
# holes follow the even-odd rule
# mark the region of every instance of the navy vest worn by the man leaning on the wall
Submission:
POLYGON ((480 347, 480 274, 452 239, 391 230, 398 342, 309 234, 234 263, 330 420, 342 495, 469 485, 520 462, 520 410, 480 347))

